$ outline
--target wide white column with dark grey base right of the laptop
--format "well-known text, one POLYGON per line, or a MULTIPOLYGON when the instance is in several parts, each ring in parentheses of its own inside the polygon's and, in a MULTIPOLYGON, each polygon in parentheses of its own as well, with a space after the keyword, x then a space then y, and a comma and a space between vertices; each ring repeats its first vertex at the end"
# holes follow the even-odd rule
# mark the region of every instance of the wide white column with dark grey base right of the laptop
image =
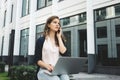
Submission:
POLYGON ((87 0, 87 53, 88 53, 88 73, 92 73, 95 68, 93 0, 87 0))

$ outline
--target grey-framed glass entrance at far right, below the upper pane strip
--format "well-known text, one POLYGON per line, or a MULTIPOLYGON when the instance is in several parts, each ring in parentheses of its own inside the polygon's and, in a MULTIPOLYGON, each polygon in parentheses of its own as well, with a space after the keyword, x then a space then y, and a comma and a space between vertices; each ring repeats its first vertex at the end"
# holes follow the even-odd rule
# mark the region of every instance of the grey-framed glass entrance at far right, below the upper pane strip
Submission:
POLYGON ((98 64, 120 66, 120 18, 95 23, 98 64))

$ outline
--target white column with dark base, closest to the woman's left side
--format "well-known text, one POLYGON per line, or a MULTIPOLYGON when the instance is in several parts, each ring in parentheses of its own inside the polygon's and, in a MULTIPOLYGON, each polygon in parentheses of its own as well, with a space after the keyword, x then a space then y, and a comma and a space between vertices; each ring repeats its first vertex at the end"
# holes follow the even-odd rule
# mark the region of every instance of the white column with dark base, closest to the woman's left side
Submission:
POLYGON ((35 12, 37 0, 31 0, 30 2, 30 28, 29 28, 29 47, 28 47, 28 64, 33 64, 35 53, 35 36, 36 36, 36 24, 35 24, 35 12))

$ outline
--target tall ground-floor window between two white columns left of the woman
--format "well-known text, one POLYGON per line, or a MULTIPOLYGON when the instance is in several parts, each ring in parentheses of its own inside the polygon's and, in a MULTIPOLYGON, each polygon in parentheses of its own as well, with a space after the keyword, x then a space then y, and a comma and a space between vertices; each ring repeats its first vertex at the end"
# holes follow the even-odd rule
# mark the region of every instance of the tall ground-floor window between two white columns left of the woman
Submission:
POLYGON ((27 57, 28 55, 28 42, 29 42, 29 29, 21 30, 20 37, 20 55, 27 57))

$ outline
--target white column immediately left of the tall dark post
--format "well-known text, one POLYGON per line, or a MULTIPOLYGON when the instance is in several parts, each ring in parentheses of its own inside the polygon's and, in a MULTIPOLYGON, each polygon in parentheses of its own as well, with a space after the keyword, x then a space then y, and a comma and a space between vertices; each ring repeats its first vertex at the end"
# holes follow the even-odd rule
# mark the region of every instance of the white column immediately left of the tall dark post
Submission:
POLYGON ((9 55, 9 37, 11 33, 11 27, 9 27, 9 21, 10 21, 10 13, 11 13, 11 1, 7 1, 7 9, 6 9, 6 23, 4 27, 4 44, 3 44, 3 56, 2 60, 6 63, 8 63, 8 55, 9 55))

